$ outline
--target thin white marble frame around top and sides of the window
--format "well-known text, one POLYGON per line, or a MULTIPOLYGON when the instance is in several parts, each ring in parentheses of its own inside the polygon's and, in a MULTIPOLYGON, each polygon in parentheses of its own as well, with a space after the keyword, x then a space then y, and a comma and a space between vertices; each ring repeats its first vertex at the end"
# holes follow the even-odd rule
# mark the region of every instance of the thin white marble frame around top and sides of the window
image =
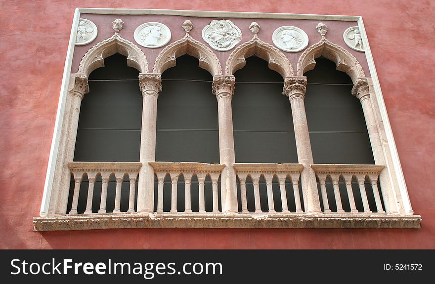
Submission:
POLYGON ((358 26, 361 31, 363 45, 366 49, 366 58, 369 65, 370 74, 372 76, 372 87, 374 93, 376 94, 373 98, 376 102, 376 113, 382 119, 382 123, 384 126, 384 132, 387 138, 386 147, 390 150, 389 152, 389 160, 392 163, 392 168, 395 173, 395 182, 398 185, 398 190, 401 193, 401 200, 403 201, 404 206, 404 215, 412 215, 413 211, 411 208, 411 204, 409 202, 408 192, 406 188, 406 184, 403 177, 403 172, 401 169, 399 157, 397 154, 397 149, 394 143, 394 138, 392 136, 392 129, 388 119, 385 102, 382 96, 382 91, 380 88, 378 76, 376 73, 376 69, 373 62, 373 57, 371 54, 370 46, 366 37, 364 24, 362 18, 360 16, 328 16, 328 15, 302 15, 302 14, 273 14, 273 13, 244 13, 244 12, 206 12, 206 11, 178 11, 178 10, 150 10, 150 9, 138 9, 138 10, 130 10, 130 9, 99 9, 99 8, 77 8, 75 11, 73 25, 71 29, 70 35, 70 43, 67 52, 67 60, 64 68, 63 80, 61 85, 61 91, 59 96, 59 104, 56 115, 56 122, 54 127, 54 133, 51 143, 47 173, 44 184, 44 194, 43 200, 41 204, 41 216, 47 216, 51 191, 53 187, 53 177, 54 171, 57 166, 57 156, 60 150, 60 133, 62 131, 64 125, 64 113, 65 113, 65 104, 68 96, 68 85, 70 83, 71 77, 71 65, 72 58, 74 52, 74 43, 77 32, 77 25, 79 22, 79 18, 81 13, 94 13, 94 14, 156 14, 156 15, 179 15, 182 14, 184 16, 203 16, 203 17, 232 17, 232 18, 274 18, 274 19, 315 19, 315 20, 342 20, 342 21, 357 21, 358 26))

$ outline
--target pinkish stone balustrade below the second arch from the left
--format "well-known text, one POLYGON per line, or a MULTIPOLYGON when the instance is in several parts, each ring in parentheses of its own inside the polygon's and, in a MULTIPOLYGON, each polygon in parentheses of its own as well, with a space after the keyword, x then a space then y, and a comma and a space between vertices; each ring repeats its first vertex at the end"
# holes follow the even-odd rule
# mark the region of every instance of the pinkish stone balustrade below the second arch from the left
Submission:
POLYGON ((171 177, 171 210, 170 212, 176 213, 177 209, 177 184, 179 177, 182 175, 184 178, 185 186, 185 209, 184 213, 192 213, 191 205, 191 182, 192 177, 196 176, 199 185, 199 213, 206 213, 205 209, 205 179, 210 176, 213 184, 212 199, 213 211, 212 213, 219 213, 218 209, 218 179, 225 167, 223 164, 209 164, 199 162, 148 162, 152 166, 157 175, 158 190, 157 190, 157 213, 163 213, 163 200, 167 197, 163 195, 163 187, 165 177, 171 177))

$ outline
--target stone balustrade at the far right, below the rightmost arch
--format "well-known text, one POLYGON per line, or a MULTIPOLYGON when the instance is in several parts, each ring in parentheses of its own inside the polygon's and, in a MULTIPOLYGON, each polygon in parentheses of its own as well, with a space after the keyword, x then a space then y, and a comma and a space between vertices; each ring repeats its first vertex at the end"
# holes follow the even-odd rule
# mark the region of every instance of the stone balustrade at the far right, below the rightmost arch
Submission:
POLYGON ((320 184, 324 213, 385 214, 382 202, 392 197, 388 197, 387 191, 378 187, 379 174, 384 167, 373 164, 311 164, 320 184), (333 189, 327 190, 331 184, 333 189), (342 187, 346 185, 346 190, 340 190, 340 184, 342 187), (355 189, 356 185, 358 189, 355 189), (334 201, 336 210, 331 210, 331 200, 334 201), (355 200, 362 203, 360 210, 357 209, 358 203, 355 200), (348 210, 343 208, 344 204, 348 205, 348 210))

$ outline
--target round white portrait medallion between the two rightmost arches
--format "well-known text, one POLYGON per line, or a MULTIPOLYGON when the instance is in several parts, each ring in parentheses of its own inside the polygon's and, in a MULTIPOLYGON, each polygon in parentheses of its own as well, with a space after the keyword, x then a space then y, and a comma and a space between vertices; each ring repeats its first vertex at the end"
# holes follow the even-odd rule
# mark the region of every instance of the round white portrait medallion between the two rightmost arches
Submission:
POLYGON ((308 45, 308 36, 300 28, 282 26, 273 32, 272 41, 281 50, 298 52, 308 45))

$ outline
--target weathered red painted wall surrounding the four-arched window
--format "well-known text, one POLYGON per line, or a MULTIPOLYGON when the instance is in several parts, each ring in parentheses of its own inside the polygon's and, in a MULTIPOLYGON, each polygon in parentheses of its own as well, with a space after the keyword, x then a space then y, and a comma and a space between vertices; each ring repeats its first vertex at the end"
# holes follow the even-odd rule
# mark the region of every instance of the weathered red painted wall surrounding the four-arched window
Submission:
POLYGON ((434 11, 430 0, 1 1, 0 248, 435 248, 434 11), (76 7, 361 15, 422 228, 33 232, 76 7))

